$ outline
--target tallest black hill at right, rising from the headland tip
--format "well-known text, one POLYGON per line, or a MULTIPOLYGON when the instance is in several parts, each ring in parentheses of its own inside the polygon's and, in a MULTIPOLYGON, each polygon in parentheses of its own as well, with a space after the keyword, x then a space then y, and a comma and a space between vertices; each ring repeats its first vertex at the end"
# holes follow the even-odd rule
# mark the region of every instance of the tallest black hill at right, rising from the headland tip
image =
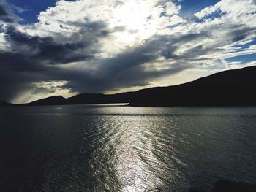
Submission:
POLYGON ((138 91, 133 106, 256 105, 256 66, 212 74, 165 88, 138 91))

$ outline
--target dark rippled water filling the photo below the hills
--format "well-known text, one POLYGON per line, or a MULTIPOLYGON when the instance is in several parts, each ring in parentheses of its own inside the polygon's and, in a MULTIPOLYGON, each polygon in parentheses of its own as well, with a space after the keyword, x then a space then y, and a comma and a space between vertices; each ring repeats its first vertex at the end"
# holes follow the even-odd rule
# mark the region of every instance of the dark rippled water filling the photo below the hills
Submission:
POLYGON ((0 191, 256 183, 256 108, 0 108, 0 191))

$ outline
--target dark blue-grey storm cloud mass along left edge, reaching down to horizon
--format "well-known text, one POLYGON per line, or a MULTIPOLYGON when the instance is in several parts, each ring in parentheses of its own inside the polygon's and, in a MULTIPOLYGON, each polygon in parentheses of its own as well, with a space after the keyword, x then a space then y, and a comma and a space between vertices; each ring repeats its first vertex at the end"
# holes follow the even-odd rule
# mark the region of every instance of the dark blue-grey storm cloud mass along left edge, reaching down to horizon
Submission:
POLYGON ((7 101, 30 89, 33 82, 60 80, 64 72, 54 67, 55 64, 93 57, 77 53, 86 49, 90 41, 55 42, 53 37, 32 37, 14 27, 7 28, 5 39, 11 49, 0 52, 0 99, 7 101))

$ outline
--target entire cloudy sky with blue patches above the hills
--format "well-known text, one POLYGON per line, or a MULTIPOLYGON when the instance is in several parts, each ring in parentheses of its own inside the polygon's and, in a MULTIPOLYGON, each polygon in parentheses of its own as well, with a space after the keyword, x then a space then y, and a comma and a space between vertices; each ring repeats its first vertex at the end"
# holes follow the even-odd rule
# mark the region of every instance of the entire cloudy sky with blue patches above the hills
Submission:
POLYGON ((0 0, 0 100, 15 104, 255 64, 255 0, 0 0))

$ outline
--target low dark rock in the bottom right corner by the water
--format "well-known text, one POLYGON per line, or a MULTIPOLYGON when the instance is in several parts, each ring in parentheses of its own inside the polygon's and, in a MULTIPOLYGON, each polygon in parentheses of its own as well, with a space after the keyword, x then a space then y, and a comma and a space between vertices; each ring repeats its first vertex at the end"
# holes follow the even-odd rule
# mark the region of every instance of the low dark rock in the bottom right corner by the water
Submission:
MULTIPOLYGON (((256 185, 245 182, 234 182, 230 180, 219 180, 214 185, 212 192, 255 192, 256 185)), ((191 189, 189 192, 203 192, 191 189)))

